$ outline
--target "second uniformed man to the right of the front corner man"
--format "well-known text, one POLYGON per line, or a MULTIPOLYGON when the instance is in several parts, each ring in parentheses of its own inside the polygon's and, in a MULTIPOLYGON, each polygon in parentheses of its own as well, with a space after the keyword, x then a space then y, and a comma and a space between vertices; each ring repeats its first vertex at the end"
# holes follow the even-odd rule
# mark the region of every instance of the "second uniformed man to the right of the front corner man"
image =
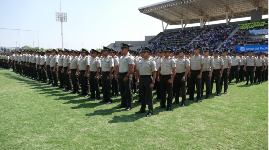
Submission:
POLYGON ((181 93, 181 107, 184 107, 186 103, 186 76, 190 72, 190 60, 185 57, 186 52, 187 50, 182 47, 179 47, 179 51, 175 52, 175 61, 177 67, 174 80, 174 89, 176 92, 176 98, 175 102, 172 104, 179 104, 179 94, 181 93))

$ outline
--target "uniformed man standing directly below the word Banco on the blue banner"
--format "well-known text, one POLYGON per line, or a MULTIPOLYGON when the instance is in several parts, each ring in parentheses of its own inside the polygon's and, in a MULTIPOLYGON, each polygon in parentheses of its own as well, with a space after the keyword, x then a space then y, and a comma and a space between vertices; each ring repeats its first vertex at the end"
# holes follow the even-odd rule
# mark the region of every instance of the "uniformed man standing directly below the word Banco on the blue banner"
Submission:
POLYGON ((246 72, 246 80, 247 83, 245 85, 248 85, 249 82, 249 76, 250 76, 250 86, 253 86, 253 80, 254 80, 254 72, 256 71, 257 66, 257 59, 253 56, 252 50, 248 51, 248 57, 245 59, 244 69, 246 72))

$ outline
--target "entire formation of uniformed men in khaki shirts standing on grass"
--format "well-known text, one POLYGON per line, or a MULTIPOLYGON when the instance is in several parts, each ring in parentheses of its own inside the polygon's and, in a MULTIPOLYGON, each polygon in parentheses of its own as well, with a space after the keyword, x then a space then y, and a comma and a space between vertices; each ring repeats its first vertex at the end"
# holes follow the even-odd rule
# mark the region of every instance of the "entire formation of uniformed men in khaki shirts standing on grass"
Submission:
MULTIPOLYGON (((104 99, 100 102, 111 104, 112 98, 118 97, 119 86, 122 101, 118 108, 126 107, 126 111, 130 111, 133 107, 134 85, 132 86, 132 81, 134 81, 133 84, 136 82, 135 85, 139 89, 140 99, 137 102, 142 102, 140 110, 135 113, 145 113, 146 105, 148 105, 147 117, 153 115, 152 89, 155 85, 157 92, 155 99, 161 99, 158 108, 166 107, 166 94, 168 94, 166 110, 171 111, 172 104, 179 104, 180 95, 181 107, 186 105, 186 100, 194 100, 195 86, 199 103, 203 96, 204 84, 206 85, 205 99, 209 99, 214 81, 217 96, 220 96, 222 82, 224 82, 224 93, 227 94, 228 81, 231 83, 233 78, 238 84, 239 80, 244 81, 244 75, 246 75, 245 85, 248 85, 250 80, 251 86, 257 80, 259 84, 268 80, 266 72, 268 55, 265 53, 257 53, 253 56, 254 52, 250 50, 244 54, 245 56, 243 53, 233 52, 233 56, 229 57, 226 55, 227 50, 222 49, 222 55, 219 50, 213 50, 213 56, 210 56, 211 50, 203 48, 204 56, 201 56, 202 47, 195 45, 194 55, 181 47, 176 51, 164 47, 164 49, 157 49, 156 56, 152 54, 153 51, 150 48, 144 46, 140 49, 140 57, 137 51, 129 48, 128 44, 121 43, 119 57, 116 56, 117 52, 114 49, 107 47, 103 47, 102 56, 94 49, 90 52, 86 49, 81 51, 53 49, 46 52, 15 51, 11 54, 1 54, 1 67, 5 69, 12 67, 17 74, 43 81, 42 83, 47 83, 48 79, 48 84, 53 87, 58 87, 58 75, 61 74, 59 88, 68 92, 72 91, 72 94, 79 94, 81 87, 82 93, 79 95, 94 100, 100 100, 99 79, 101 79, 104 99), (136 67, 135 64, 137 64, 136 67), (133 80, 134 75, 137 81, 133 80), (187 89, 190 94, 188 99, 186 99, 187 78, 189 79, 187 89), (176 97, 172 103, 173 90, 176 97), (112 97, 114 92, 115 96, 112 97)), ((135 89, 134 93, 136 93, 135 89)))

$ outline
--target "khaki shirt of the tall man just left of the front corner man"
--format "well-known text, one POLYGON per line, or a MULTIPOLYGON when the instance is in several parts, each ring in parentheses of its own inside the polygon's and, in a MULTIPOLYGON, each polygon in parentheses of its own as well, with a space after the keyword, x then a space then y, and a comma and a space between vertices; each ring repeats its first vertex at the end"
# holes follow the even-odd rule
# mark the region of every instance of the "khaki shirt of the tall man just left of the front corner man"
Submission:
POLYGON ((125 56, 121 56, 119 60, 119 73, 128 72, 129 64, 134 64, 134 57, 128 52, 125 56))

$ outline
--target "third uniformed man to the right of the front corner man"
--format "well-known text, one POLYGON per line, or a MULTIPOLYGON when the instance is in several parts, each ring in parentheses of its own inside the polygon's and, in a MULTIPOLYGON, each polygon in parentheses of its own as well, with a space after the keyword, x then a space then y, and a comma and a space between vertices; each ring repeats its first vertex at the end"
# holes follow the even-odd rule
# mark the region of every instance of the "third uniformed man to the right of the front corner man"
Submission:
POLYGON ((203 72, 204 58, 199 54, 202 49, 199 45, 194 45, 194 56, 191 57, 190 77, 190 98, 186 100, 194 100, 195 85, 197 90, 197 103, 201 101, 201 78, 203 72))

